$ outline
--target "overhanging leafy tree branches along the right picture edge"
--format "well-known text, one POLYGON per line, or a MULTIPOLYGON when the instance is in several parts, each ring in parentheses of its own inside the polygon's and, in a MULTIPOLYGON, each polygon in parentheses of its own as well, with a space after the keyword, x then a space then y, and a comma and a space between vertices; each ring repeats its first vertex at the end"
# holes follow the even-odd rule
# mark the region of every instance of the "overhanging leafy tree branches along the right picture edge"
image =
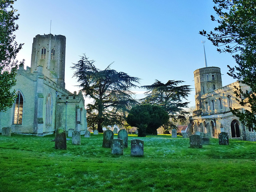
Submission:
POLYGON ((233 54, 237 66, 229 68, 229 75, 238 82, 247 84, 252 92, 243 92, 235 87, 236 100, 248 108, 246 113, 231 109, 246 126, 256 127, 256 0, 213 0, 214 10, 219 18, 214 32, 205 30, 200 34, 208 37, 218 52, 233 54), (221 48, 222 47, 222 48, 221 48))

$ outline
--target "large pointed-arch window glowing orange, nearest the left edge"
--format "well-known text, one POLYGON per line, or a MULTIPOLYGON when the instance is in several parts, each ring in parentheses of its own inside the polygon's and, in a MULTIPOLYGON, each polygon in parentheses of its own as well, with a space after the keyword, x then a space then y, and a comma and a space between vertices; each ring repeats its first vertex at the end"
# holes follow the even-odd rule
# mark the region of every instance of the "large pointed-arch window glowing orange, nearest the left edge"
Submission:
POLYGON ((23 115, 23 97, 22 97, 22 94, 18 91, 16 101, 14 103, 13 124, 22 124, 22 115, 23 115))

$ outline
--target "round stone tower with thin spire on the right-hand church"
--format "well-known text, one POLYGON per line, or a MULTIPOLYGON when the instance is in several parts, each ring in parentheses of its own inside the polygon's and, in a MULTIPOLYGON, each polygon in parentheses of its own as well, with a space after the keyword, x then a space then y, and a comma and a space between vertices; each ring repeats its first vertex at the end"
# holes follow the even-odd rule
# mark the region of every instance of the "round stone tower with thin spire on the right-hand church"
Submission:
POLYGON ((201 96, 222 88, 219 67, 204 67, 194 71, 196 110, 202 109, 201 96))

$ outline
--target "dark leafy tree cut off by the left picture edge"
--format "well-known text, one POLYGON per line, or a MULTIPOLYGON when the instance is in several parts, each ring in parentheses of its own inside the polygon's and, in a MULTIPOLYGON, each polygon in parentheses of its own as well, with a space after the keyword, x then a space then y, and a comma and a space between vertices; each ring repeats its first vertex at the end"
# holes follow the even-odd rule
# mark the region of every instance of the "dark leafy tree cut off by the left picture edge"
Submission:
POLYGON ((15 41, 14 32, 18 30, 15 21, 19 14, 15 15, 13 8, 16 0, 0 1, 0 112, 12 107, 15 100, 15 91, 10 91, 15 85, 15 75, 18 61, 17 53, 23 44, 15 41))

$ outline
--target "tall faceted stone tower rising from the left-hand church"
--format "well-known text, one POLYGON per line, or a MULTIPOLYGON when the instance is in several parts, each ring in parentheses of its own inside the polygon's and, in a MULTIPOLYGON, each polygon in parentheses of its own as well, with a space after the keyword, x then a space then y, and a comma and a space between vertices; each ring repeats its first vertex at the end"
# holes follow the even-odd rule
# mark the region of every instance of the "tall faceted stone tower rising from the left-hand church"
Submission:
POLYGON ((43 74, 65 88, 66 37, 63 35, 36 35, 32 44, 31 70, 43 67, 43 74))

